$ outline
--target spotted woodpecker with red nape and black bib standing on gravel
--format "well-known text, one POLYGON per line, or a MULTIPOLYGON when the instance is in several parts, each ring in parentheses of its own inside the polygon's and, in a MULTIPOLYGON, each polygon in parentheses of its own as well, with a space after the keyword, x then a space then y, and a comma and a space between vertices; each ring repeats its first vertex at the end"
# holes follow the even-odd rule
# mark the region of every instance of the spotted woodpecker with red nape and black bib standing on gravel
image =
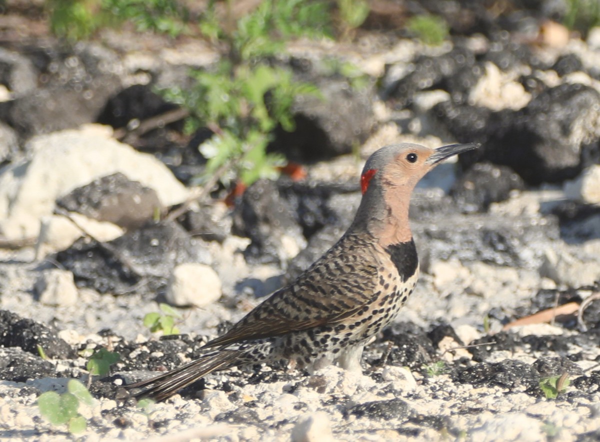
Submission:
POLYGON ((161 401, 215 371, 282 360, 308 373, 332 363, 361 370, 365 344, 395 319, 419 276, 409 224, 413 189, 446 158, 478 147, 400 143, 374 152, 362 169, 355 218, 331 249, 208 341, 199 358, 127 388, 161 401))

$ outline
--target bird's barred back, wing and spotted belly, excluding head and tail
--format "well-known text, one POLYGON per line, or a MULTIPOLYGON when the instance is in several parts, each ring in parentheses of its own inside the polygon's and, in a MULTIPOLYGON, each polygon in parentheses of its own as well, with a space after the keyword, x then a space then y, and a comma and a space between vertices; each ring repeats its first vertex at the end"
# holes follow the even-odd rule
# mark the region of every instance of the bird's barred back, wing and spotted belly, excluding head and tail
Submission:
POLYGON ((383 250, 371 235, 348 232, 290 286, 207 346, 260 344, 256 362, 283 358, 300 367, 343 361, 394 319, 417 272, 412 241, 383 250))

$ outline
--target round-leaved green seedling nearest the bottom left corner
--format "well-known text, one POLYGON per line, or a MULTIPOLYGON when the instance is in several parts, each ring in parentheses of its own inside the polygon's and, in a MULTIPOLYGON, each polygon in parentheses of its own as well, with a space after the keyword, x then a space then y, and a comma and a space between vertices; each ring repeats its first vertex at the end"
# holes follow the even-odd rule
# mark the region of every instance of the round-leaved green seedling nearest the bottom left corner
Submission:
POLYGON ((71 434, 79 434, 86 430, 88 424, 79 413, 80 404, 88 407, 94 405, 94 398, 88 389, 77 379, 67 383, 67 391, 59 394, 55 391, 42 393, 38 398, 40 413, 52 425, 67 425, 71 434))

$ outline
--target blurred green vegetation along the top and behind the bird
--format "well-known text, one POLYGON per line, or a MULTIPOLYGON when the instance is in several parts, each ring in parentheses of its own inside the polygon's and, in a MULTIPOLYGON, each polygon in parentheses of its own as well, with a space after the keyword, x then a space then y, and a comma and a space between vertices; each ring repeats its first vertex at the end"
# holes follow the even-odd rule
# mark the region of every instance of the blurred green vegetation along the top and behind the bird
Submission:
MULTIPOLYGON (((563 24, 585 35, 600 24, 599 0, 563 0, 563 24)), ((188 111, 188 134, 208 128, 214 134, 200 146, 208 159, 202 184, 214 174, 224 184, 248 186, 259 178, 277 177, 281 155, 266 147, 275 128, 293 131, 292 106, 299 95, 319 96, 315 84, 298 81, 289 66, 274 59, 299 38, 329 39, 352 44, 356 32, 377 2, 370 0, 0 0, 6 13, 37 15, 65 44, 95 38, 103 29, 127 26, 173 40, 200 38, 217 52, 211 68, 190 71, 191 85, 158 90, 188 111)), ((400 2, 401 3, 401 2, 400 2)), ((418 2, 417 2, 418 3, 418 2)), ((493 0, 483 2, 495 4, 493 0)), ((501 3, 501 2, 498 2, 501 3)), ((511 2, 505 2, 511 3, 511 2)), ((518 1, 515 1, 518 3, 518 1)), ((488 5, 489 6, 489 5, 488 5)), ((402 14, 398 31, 423 44, 437 46, 451 30, 443 17, 402 14)), ((377 32, 376 28, 370 31, 377 32)), ((331 61, 331 60, 330 60, 331 61)), ((327 60, 324 61, 325 63, 327 60)), ((351 87, 364 81, 360 69, 334 60, 332 72, 351 87)))

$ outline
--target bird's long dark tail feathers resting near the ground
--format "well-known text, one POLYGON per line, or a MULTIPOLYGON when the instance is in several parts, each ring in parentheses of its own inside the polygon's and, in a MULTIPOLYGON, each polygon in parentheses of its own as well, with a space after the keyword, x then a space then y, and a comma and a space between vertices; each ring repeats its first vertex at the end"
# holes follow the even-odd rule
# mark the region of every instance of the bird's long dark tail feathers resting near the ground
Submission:
POLYGON ((233 367, 241 353, 239 350, 211 352, 160 376, 127 385, 127 388, 142 388, 140 392, 134 394, 136 398, 148 397, 162 401, 213 371, 233 367))

